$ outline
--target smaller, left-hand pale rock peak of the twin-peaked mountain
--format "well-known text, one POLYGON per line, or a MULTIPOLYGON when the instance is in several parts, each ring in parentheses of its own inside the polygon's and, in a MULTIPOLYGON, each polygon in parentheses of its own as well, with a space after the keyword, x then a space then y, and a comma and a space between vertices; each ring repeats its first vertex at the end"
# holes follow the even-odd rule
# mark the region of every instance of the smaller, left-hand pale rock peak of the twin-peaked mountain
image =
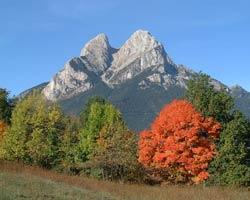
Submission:
POLYGON ((90 70, 99 75, 111 65, 114 51, 115 49, 109 44, 108 37, 101 33, 84 46, 80 56, 89 63, 90 70))

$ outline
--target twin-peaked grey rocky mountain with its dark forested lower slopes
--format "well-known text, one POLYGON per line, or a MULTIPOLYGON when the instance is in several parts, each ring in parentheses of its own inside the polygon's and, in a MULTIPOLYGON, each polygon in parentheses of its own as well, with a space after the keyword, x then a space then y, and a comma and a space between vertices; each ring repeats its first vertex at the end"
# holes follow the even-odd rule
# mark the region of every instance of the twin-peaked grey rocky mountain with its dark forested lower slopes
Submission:
MULTIPOLYGON (((195 73, 175 64, 148 31, 136 31, 119 49, 102 33, 41 89, 48 100, 59 102, 70 114, 79 114, 90 97, 102 96, 121 110, 130 128, 141 130, 164 104, 183 96, 195 73)), ((211 84, 218 90, 226 88, 237 106, 249 111, 250 93, 238 87, 230 89, 215 79, 211 84)))

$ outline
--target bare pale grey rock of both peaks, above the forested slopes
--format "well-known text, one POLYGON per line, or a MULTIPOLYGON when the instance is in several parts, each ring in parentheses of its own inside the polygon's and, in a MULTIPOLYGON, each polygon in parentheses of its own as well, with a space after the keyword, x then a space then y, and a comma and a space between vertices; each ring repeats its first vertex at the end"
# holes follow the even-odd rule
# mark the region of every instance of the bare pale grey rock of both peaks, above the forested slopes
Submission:
POLYGON ((171 85, 185 87, 190 74, 194 73, 174 64, 163 45, 148 31, 136 31, 119 49, 111 47, 105 34, 99 34, 84 46, 80 57, 65 64, 43 94, 51 101, 68 99, 90 90, 97 79, 115 88, 147 70, 151 70, 151 74, 138 83, 141 89, 151 84, 166 90, 171 85))

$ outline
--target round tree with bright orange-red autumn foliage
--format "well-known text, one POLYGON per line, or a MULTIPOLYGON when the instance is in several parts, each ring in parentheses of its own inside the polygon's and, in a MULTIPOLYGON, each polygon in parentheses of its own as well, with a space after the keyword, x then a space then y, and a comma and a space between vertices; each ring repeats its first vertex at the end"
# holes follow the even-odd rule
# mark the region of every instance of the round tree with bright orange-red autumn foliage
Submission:
POLYGON ((220 124, 186 100, 166 105, 149 130, 140 133, 139 162, 161 182, 200 183, 209 177, 220 124))

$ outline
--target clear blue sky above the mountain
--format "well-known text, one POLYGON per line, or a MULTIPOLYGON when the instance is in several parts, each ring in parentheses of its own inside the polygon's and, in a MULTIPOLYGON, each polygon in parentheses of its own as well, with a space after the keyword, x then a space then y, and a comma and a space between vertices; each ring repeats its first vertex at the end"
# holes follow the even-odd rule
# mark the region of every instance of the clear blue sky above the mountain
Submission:
POLYGON ((250 91, 249 0, 0 0, 0 87, 48 81, 104 32, 150 31, 177 64, 250 91))

